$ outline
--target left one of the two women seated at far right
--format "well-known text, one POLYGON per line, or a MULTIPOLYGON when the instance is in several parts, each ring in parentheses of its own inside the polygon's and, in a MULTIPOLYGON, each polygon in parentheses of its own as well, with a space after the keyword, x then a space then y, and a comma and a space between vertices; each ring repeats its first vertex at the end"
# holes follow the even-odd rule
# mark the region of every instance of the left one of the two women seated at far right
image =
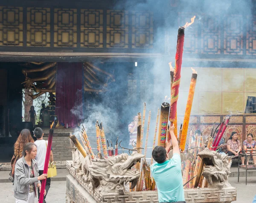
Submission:
POLYGON ((241 143, 238 139, 237 132, 232 132, 227 140, 227 155, 236 156, 241 151, 241 143))

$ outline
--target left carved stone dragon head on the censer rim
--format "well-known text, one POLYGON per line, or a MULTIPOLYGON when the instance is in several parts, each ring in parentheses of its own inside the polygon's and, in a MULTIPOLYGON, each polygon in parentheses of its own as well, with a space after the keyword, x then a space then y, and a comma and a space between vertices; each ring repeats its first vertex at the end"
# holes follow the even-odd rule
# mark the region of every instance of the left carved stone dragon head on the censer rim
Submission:
POLYGON ((82 181, 91 184, 93 189, 101 193, 124 194, 125 183, 130 182, 130 188, 136 186, 140 171, 132 167, 141 161, 143 154, 134 151, 131 156, 124 153, 108 158, 91 159, 90 156, 84 158, 73 142, 70 141, 70 145, 73 157, 70 168, 82 181))

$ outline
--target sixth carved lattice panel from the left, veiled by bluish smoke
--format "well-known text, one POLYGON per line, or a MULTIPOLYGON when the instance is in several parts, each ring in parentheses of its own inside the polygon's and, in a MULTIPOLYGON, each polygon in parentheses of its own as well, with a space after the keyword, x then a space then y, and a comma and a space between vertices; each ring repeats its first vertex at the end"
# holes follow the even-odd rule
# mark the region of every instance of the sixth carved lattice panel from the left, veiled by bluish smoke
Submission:
POLYGON ((132 12, 132 48, 153 48, 153 12, 132 12))

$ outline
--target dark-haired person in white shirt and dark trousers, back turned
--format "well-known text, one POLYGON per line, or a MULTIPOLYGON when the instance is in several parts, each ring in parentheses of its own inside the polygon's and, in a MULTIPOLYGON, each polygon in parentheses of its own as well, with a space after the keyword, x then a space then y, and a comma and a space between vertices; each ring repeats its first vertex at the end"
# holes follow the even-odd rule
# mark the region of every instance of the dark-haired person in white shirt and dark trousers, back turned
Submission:
MULTIPOLYGON (((41 174, 44 174, 44 162, 46 157, 48 141, 43 139, 44 132, 41 128, 35 128, 34 136, 37 138, 37 140, 35 141, 35 145, 37 145, 37 154, 36 154, 35 160, 37 160, 38 162, 39 175, 41 175, 41 174)), ((50 153, 50 162, 53 162, 52 149, 50 153)), ((46 186, 45 186, 46 195, 49 191, 50 185, 51 185, 51 178, 47 178, 46 186)), ((45 201, 46 195, 44 196, 44 203, 46 203, 45 201)), ((39 197, 38 197, 38 200, 39 200, 39 197)))

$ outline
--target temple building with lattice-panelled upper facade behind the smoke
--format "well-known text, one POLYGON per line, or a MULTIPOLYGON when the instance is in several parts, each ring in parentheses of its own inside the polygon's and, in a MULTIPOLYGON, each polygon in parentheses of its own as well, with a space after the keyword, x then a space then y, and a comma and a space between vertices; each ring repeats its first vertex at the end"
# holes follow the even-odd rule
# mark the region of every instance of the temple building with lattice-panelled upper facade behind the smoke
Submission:
POLYGON ((129 142, 128 125, 143 102, 155 121, 157 105, 170 96, 169 62, 175 61, 177 30, 194 15, 185 30, 178 125, 193 67, 198 79, 188 133, 200 130, 209 136, 214 123, 232 115, 225 138, 232 131, 240 140, 248 133, 255 137, 256 8, 240 9, 234 1, 210 12, 210 0, 201 8, 182 2, 2 0, 0 151, 8 156, 0 162, 10 162, 19 132, 31 126, 23 119, 24 102, 45 93, 49 120, 42 128, 47 135, 57 119, 56 161, 71 159, 68 135, 82 123, 89 136, 95 133, 91 124, 99 120, 106 124, 107 137, 129 142))

